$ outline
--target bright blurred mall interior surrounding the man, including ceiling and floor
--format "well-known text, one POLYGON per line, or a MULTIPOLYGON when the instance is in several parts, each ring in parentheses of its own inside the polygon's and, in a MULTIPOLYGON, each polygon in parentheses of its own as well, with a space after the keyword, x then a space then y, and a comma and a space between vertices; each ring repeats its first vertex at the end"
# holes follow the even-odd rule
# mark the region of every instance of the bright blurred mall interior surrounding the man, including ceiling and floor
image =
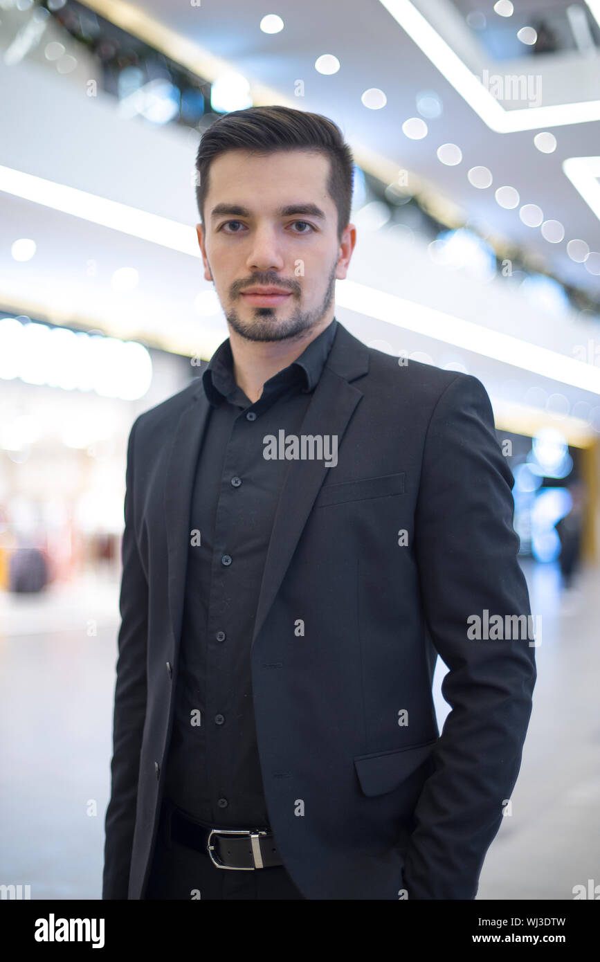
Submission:
POLYGON ((272 103, 354 151, 337 319, 486 386, 542 630, 478 898, 573 899, 600 882, 600 0, 0 0, 0 883, 100 898, 127 438, 228 337, 199 138, 272 103))

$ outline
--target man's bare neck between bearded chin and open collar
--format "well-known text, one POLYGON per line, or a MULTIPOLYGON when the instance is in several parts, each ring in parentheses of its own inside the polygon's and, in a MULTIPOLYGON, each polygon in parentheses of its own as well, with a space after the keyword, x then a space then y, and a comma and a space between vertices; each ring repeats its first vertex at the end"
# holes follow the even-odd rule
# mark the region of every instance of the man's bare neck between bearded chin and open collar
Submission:
POLYGON ((264 382, 299 358, 330 323, 333 323, 333 315, 283 341, 248 341, 230 327, 234 378, 238 387, 254 404, 263 393, 264 382))

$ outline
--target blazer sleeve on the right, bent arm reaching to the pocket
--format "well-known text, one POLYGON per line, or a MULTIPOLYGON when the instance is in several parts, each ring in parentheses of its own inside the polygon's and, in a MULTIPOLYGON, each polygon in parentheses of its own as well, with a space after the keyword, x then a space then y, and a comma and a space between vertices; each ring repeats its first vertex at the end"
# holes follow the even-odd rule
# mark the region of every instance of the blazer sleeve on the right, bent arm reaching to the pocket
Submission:
MULTIPOLYGON (((451 706, 405 853, 409 899, 474 899, 511 797, 532 710, 535 641, 470 640, 469 616, 531 614, 512 526, 511 468, 486 389, 460 374, 442 392, 424 444, 414 550, 423 617, 448 668, 451 706)), ((522 620, 521 620, 522 622, 522 620)), ((510 622, 509 622, 510 623, 510 622)), ((514 621, 512 622, 514 623, 514 621)))

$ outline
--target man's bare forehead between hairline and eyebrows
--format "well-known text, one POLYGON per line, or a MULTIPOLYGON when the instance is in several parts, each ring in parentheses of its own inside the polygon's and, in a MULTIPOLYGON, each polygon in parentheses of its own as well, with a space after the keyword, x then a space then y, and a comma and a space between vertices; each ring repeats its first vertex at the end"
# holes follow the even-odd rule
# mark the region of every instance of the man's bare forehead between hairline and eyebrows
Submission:
POLYGON ((309 150, 277 150, 270 154, 257 154, 247 150, 228 150, 215 157, 209 174, 211 202, 241 200, 248 202, 252 196, 263 200, 273 197, 274 202, 290 193, 302 195, 305 200, 318 198, 322 203, 333 200, 327 193, 330 160, 326 155, 309 150), (236 196, 234 196, 234 194, 236 196), (248 195, 251 195, 249 197, 248 195))

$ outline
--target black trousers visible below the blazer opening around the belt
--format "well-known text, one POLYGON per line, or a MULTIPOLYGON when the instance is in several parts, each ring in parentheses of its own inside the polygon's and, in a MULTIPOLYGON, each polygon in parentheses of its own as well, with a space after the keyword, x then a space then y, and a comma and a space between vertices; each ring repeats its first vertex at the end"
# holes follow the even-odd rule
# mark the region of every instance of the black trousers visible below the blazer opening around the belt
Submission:
POLYGON ((145 899, 304 899, 283 865, 252 872, 217 869, 208 851, 170 838, 162 805, 145 899))

